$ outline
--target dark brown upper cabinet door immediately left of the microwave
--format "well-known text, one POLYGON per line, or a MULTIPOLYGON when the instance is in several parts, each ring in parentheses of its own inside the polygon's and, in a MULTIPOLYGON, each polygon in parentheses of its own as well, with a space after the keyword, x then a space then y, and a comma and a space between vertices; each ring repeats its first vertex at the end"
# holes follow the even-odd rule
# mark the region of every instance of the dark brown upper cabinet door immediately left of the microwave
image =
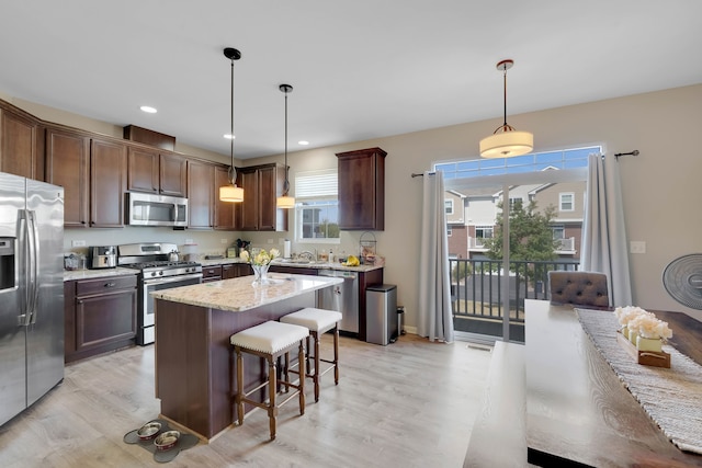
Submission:
POLYGON ((125 145, 93 139, 90 146, 90 226, 124 226, 124 192, 127 187, 125 145))

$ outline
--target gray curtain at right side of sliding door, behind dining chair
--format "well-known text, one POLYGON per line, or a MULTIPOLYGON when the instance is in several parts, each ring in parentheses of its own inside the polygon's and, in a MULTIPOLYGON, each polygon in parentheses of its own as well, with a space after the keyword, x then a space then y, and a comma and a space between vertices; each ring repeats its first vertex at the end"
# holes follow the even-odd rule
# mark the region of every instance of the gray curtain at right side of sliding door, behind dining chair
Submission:
POLYGON ((611 157, 589 156, 580 265, 607 274, 611 306, 632 305, 619 161, 611 157))

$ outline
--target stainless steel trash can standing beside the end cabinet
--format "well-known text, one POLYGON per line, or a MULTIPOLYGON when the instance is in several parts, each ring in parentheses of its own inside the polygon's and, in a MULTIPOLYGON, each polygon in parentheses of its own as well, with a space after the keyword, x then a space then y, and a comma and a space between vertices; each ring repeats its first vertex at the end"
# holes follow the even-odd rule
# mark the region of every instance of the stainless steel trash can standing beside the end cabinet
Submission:
POLYGON ((365 288, 365 341, 386 345, 397 338, 397 286, 365 288))

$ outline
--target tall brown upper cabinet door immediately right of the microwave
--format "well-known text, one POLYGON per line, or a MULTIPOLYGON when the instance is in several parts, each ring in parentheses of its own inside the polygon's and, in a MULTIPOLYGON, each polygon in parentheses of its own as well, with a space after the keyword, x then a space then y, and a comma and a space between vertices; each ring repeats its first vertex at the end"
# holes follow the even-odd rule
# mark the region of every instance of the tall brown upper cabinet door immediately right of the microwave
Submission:
POLYGON ((188 227, 212 229, 214 212, 215 165, 188 161, 188 227))

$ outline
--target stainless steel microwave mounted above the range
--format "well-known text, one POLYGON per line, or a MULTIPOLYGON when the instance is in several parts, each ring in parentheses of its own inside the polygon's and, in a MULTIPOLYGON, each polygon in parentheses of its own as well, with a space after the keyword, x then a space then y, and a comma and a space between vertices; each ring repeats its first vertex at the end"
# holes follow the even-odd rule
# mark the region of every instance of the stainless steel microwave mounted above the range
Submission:
POLYGON ((127 225, 188 226, 188 198, 127 192, 127 225))

